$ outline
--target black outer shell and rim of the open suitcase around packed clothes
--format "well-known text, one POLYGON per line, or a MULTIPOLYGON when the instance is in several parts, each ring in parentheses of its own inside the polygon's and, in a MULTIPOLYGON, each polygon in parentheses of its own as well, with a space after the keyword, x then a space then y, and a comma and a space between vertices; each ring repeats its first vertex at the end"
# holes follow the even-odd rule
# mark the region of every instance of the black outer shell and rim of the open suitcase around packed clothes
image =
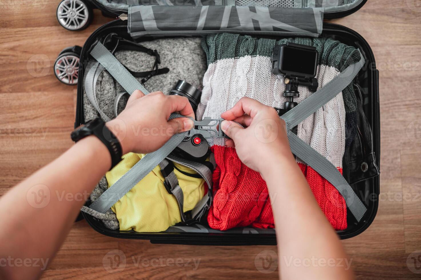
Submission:
MULTIPOLYGON (((65 2, 66 0, 62 1, 65 2)), ((83 2, 83 1, 82 1, 83 2)), ((139 2, 139 1, 129 1, 131 2, 139 2)), ((159 3, 149 3, 149 5, 159 5, 159 3)), ((194 1, 191 1, 192 3, 194 1)), ((211 4, 216 5, 216 1, 210 1, 211 4)), ((236 4, 240 3, 235 2, 236 4)), ((294 1, 293 1, 294 2, 294 1)), ((303 5, 309 4, 309 1, 303 1, 303 5)), ((317 1, 316 1, 317 2, 317 1)), ((366 2, 366 0, 338 0, 338 1, 330 1, 330 4, 325 4, 329 1, 319 1, 319 3, 313 3, 314 7, 324 7, 323 5, 330 5, 330 7, 324 9, 324 19, 335 19, 347 16, 358 11, 362 5, 366 2), (341 8, 338 11, 338 7, 333 5, 332 3, 335 2, 337 5, 342 4, 341 8), (336 9, 336 11, 335 11, 336 9)), ((85 2, 83 2, 85 3, 85 2)), ((189 3, 188 1, 185 3, 189 3)), ((208 2, 206 2, 208 3, 208 2)), ((218 2, 219 3, 219 2, 218 2)), ((256 1, 256 4, 262 4, 259 1, 256 1)), ((282 6, 285 4, 285 0, 280 1, 272 1, 273 3, 278 3, 277 5, 282 6), (279 4, 280 3, 280 4, 279 4)), ((296 1, 295 1, 296 3, 296 1)), ((86 3, 85 3, 86 4, 86 3)), ((226 0, 222 0, 220 5, 227 5, 226 0)), ((249 3, 250 4, 250 3, 249 3)), ((269 3, 270 4, 270 3, 269 3)), ((191 4, 190 4, 191 5, 191 4)), ((104 15, 106 16, 115 16, 117 19, 114 21, 110 21, 107 24, 96 29, 86 40, 85 44, 82 48, 80 47, 71 47, 67 48, 62 51, 56 61, 60 61, 60 58, 65 55, 70 55, 74 57, 80 58, 79 60, 79 69, 78 75, 75 75, 74 78, 66 78, 62 82, 67 84, 75 84, 77 76, 83 77, 84 69, 88 63, 89 52, 91 51, 93 45, 98 42, 99 38, 115 32, 119 36, 127 38, 129 40, 133 40, 133 37, 128 33, 128 20, 127 20, 127 11, 123 11, 121 7, 126 6, 126 1, 115 1, 112 0, 91 0, 89 4, 86 4, 88 10, 92 7, 99 8, 104 15), (120 6, 117 8, 116 5, 118 3, 120 6)), ((167 6, 160 6, 160 9, 165 9, 167 6)), ((196 6, 195 6, 196 7, 196 6)), ((60 8, 60 7, 59 7, 60 8)), ((194 8, 185 6, 183 8, 194 8)), ((303 10, 303 9, 300 9, 303 10)), ((285 11, 290 11, 288 8, 285 11)), ((59 18, 59 13, 62 10, 57 10, 57 15, 59 18)), ((90 11, 86 11, 86 21, 82 23, 78 23, 79 27, 84 28, 89 24, 90 18, 92 13, 90 11)), ((305 14, 305 12, 304 12, 305 14)), ((322 18, 323 19, 323 16, 322 18)), ((60 21, 60 19, 59 19, 60 21)), ((317 21, 317 19, 316 19, 317 21)), ((62 22, 61 22, 62 24, 62 22)), ((223 32, 220 29, 207 29, 207 30, 193 30, 191 28, 191 23, 184 24, 186 28, 184 30, 177 30, 177 27, 174 27, 173 24, 169 24, 168 30, 166 31, 159 31, 159 32, 138 32, 136 33, 135 40, 136 42, 142 42, 146 40, 162 38, 162 37, 173 37, 173 36, 203 36, 213 32, 223 32)), ((295 24, 301 24, 295 22, 295 24)), ((305 26, 304 23, 303 26, 305 26)), ((63 24, 62 24, 63 25, 63 24)), ((77 24, 76 24, 77 25, 77 24)), ((74 30, 77 26, 72 27, 74 30)), ((133 27, 132 27, 133 28, 133 27)), ((143 27, 142 27, 143 28, 143 27)), ((313 28, 313 27, 312 27, 313 28)), ((357 75, 358 82, 362 89, 362 99, 363 99, 363 111, 365 116, 368 119, 368 122, 371 127, 372 135, 373 135, 373 152, 376 155, 375 164, 377 167, 380 167, 380 111, 379 111, 379 93, 378 93, 378 70, 376 69, 376 62, 374 59, 373 51, 368 45, 367 41, 361 37, 357 32, 347 27, 332 24, 327 22, 320 23, 320 27, 322 28, 320 36, 327 36, 331 37, 335 40, 340 41, 341 43, 345 43, 346 45, 353 46, 358 48, 362 55, 365 58, 365 66, 361 69, 360 73, 357 75)), ((317 27, 314 27, 314 30, 317 27)), ((314 31, 313 30, 313 31, 314 31)), ((233 31, 226 31, 226 32, 233 32, 233 31)), ((285 31, 256 31, 256 30, 235 30, 235 33, 240 33, 242 35, 253 35, 253 36, 264 36, 267 38, 282 38, 282 37, 292 37, 288 32, 285 31)), ((133 34, 132 34, 133 35, 133 34)), ((56 76, 62 78, 63 75, 60 77, 60 72, 57 71, 57 67, 55 67, 56 76)), ((68 76, 67 76, 68 77, 68 76)), ((76 118, 75 118, 75 128, 84 124, 84 112, 83 112, 83 81, 82 79, 77 80, 77 107, 76 107, 76 118)), ((374 176, 371 179, 365 179, 363 181, 358 181, 351 185, 354 191, 357 193, 358 197, 362 200, 365 204, 366 208, 368 209, 363 216, 363 218, 358 222, 350 213, 348 209, 347 215, 347 224, 348 227, 345 230, 337 231, 339 237, 341 239, 346 239, 350 237, 354 237, 359 235, 365 229, 367 229, 370 224, 373 222, 377 209, 378 209, 378 200, 377 197, 380 192, 380 185, 379 185, 379 175, 374 176)), ((89 201, 87 203, 89 205, 89 201)), ((206 230, 201 232, 197 228, 196 230, 192 230, 191 232, 185 231, 166 231, 166 232, 156 232, 156 233, 142 233, 142 232, 134 232, 134 231, 119 231, 119 230, 112 230, 108 229, 104 226, 104 224, 92 216, 81 212, 80 217, 82 217, 88 222, 88 224, 95 229, 97 232, 100 232, 104 235, 111 236, 111 237, 118 237, 118 238, 128 238, 128 239, 146 239, 150 240, 151 243, 172 243, 172 244, 192 244, 192 245, 275 245, 276 244, 276 237, 273 229, 253 229, 250 230, 249 228, 245 229, 230 229, 227 231, 217 231, 217 230, 206 230)), ((82 218, 80 218, 82 219, 82 218)), ((194 227, 194 226, 193 226, 194 227)))

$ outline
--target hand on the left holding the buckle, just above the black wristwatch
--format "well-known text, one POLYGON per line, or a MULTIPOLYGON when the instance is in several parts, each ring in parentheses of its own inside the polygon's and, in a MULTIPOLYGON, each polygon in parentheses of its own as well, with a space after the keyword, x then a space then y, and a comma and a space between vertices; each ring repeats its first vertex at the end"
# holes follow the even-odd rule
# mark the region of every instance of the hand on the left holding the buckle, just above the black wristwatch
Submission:
POLYGON ((165 96, 161 91, 144 95, 133 92, 123 112, 107 122, 107 128, 120 141, 123 155, 128 152, 153 152, 165 144, 171 136, 193 128, 195 117, 189 100, 183 96, 165 96), (186 117, 168 120, 171 113, 179 112, 186 117))

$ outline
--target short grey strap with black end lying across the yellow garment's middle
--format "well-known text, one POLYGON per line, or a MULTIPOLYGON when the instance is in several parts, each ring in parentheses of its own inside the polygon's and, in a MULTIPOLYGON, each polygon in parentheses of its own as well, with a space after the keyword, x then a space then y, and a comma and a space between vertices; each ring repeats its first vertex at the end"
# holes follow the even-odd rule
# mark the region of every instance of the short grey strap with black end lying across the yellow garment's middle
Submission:
POLYGON ((165 189, 177 200, 177 204, 179 205, 181 221, 186 221, 186 215, 184 215, 184 193, 179 185, 179 180, 177 179, 176 174, 174 174, 174 166, 169 160, 164 159, 159 164, 161 168, 161 173, 164 176, 164 185, 165 189), (166 171, 168 167, 171 167, 171 172, 166 171))

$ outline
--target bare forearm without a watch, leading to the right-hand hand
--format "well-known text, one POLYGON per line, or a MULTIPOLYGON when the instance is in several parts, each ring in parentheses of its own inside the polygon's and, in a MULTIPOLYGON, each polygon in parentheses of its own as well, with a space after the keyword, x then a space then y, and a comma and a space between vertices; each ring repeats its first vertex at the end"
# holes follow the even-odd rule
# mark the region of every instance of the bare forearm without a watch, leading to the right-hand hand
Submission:
POLYGON ((293 157, 278 157, 262 176, 274 213, 281 278, 352 279, 350 269, 336 265, 338 259, 345 263, 346 254, 293 157), (335 264, 327 265, 331 259, 335 264))

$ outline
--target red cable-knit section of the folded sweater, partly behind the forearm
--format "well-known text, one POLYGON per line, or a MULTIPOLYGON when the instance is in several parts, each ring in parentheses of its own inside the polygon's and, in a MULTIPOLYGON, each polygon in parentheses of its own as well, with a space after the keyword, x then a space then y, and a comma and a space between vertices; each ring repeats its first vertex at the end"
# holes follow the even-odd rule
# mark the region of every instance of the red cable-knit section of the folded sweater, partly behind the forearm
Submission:
MULTIPOLYGON (((274 227, 266 183, 260 174, 241 163, 234 148, 214 145, 211 149, 217 166, 213 172, 214 200, 208 214, 210 227, 220 230, 250 225, 274 227)), ((344 198, 311 167, 298 165, 332 227, 346 229, 344 198)), ((338 169, 342 173, 342 169, 338 169)))

